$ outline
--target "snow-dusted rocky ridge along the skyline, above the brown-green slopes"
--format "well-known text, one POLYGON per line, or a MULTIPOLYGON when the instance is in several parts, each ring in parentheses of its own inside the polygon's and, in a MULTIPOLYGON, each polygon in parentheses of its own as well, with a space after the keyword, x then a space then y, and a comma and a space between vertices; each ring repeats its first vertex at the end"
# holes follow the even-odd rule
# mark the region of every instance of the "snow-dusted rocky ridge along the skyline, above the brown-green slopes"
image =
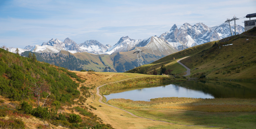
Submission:
MULTIPOLYGON (((233 24, 231 24, 231 29, 232 33, 234 34, 233 24)), ((236 31, 237 34, 241 34, 244 32, 244 27, 241 25, 236 25, 236 31)), ((154 41, 152 41, 152 43, 154 42, 153 46, 152 44, 148 45, 151 42, 152 37, 146 38, 145 40, 133 40, 128 36, 121 37, 114 46, 110 46, 109 44, 105 46, 102 43, 99 43, 97 40, 87 40, 84 43, 77 44, 74 42, 74 40, 66 38, 64 42, 58 39, 51 39, 47 43, 42 43, 41 46, 26 46, 25 49, 19 49, 19 51, 20 53, 25 51, 37 53, 58 53, 62 50, 65 50, 71 53, 88 52, 93 54, 110 55, 117 52, 127 52, 136 49, 136 47, 139 47, 139 49, 151 49, 151 53, 153 55, 160 55, 160 51, 163 49, 166 49, 167 53, 168 51, 174 52, 175 50, 173 49, 180 51, 191 46, 200 45, 210 41, 221 40, 222 38, 229 36, 231 36, 231 34, 229 25, 227 23, 223 23, 222 25, 212 28, 207 27, 207 25, 204 25, 203 23, 197 23, 193 26, 188 23, 184 23, 179 29, 176 25, 173 25, 170 31, 161 34, 159 37, 154 36, 154 41), (157 49, 158 52, 156 52, 157 49), (155 52, 153 52, 153 50, 155 52)), ((11 52, 15 52, 16 48, 10 47, 9 49, 11 52)))

